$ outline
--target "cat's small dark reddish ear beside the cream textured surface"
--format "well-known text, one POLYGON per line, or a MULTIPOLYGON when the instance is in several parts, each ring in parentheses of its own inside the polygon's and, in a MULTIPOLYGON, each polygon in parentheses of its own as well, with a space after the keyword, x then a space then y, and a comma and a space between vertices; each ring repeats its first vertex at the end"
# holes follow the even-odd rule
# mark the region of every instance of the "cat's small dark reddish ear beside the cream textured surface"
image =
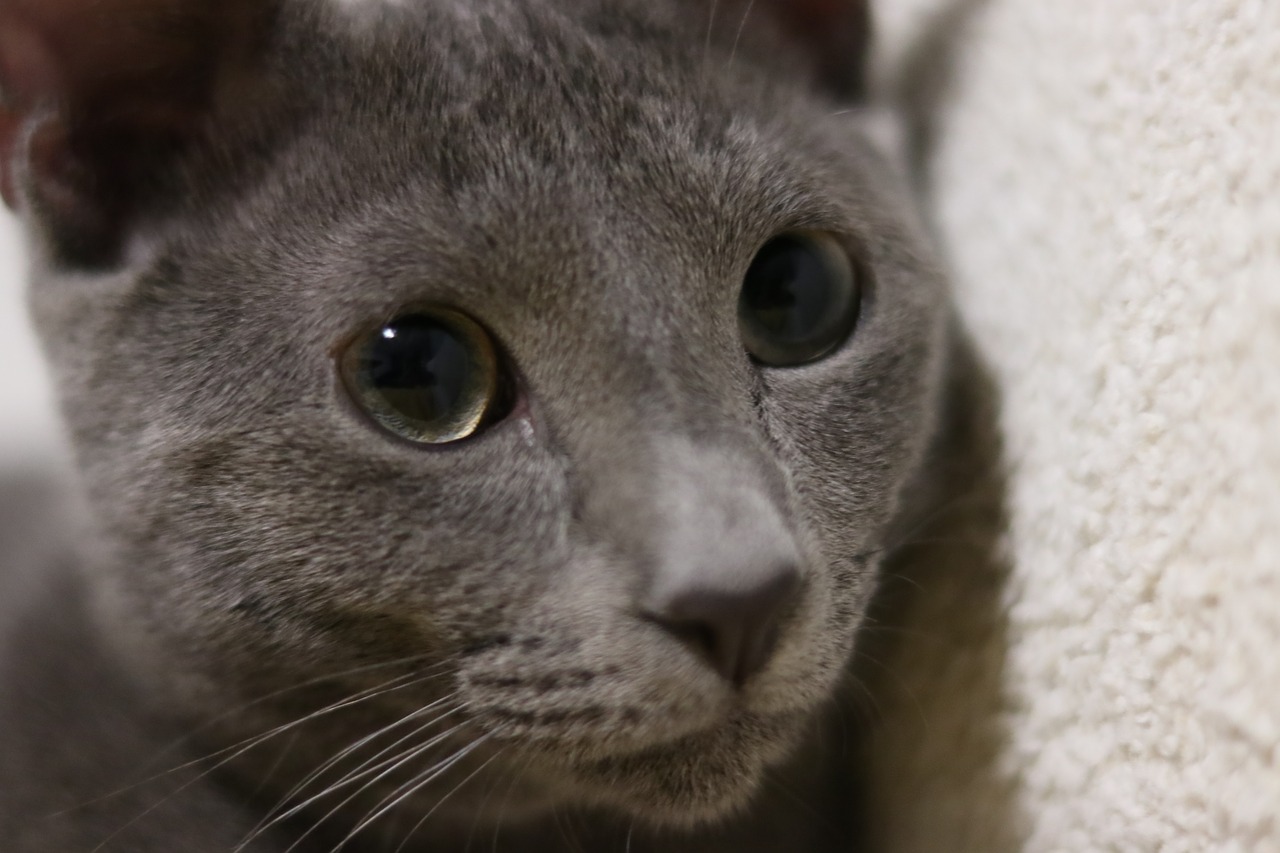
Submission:
POLYGON ((748 23, 772 15, 812 58, 822 85, 840 97, 863 96, 872 36, 869 0, 733 0, 726 5, 748 23))

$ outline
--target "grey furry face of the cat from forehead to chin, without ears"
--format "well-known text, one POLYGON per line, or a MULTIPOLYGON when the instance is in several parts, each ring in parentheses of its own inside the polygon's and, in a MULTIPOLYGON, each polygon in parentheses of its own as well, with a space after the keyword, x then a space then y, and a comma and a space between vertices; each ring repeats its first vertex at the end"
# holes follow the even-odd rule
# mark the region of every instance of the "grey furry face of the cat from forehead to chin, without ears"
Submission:
POLYGON ((110 263, 28 211, 110 635, 188 717, 394 686, 300 762, 412 719, 512 808, 740 808, 829 701, 932 429, 943 292, 904 192, 705 8, 357 12, 282 13, 268 93, 110 263), (799 364, 744 316, 771 251, 856 286, 799 364), (431 329, 492 374, 439 392, 484 410, 447 443, 370 378, 434 382, 385 343, 431 329))

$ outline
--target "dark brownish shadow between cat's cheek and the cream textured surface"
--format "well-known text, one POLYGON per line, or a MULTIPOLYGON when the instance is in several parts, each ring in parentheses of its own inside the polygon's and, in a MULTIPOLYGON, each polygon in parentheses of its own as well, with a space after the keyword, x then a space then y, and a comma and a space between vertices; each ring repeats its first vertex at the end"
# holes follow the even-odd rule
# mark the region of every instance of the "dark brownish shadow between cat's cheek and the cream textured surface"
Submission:
POLYGON ((919 511, 893 538, 844 699, 863 850, 1021 849, 1009 752, 1007 478, 998 392, 959 336, 919 511))

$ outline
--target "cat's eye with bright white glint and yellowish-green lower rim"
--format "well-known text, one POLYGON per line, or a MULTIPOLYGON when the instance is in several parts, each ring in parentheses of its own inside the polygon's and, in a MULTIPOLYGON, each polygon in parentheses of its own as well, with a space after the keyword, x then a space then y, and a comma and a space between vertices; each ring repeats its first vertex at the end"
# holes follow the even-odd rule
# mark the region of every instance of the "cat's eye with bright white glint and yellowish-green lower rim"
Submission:
POLYGON ((492 420, 499 360, 479 323, 448 309, 402 314, 340 356, 347 392, 387 430, 420 444, 474 435, 492 420))

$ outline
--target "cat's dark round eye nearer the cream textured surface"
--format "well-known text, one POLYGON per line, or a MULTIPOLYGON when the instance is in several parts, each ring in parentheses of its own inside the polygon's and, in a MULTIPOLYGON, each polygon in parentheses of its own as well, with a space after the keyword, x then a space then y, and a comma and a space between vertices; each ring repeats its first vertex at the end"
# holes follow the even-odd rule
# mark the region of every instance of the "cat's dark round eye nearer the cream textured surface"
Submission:
POLYGON ((760 364, 788 368, 833 352, 858 323, 861 283, 835 237, 795 231, 755 255, 737 302, 746 351, 760 364))

